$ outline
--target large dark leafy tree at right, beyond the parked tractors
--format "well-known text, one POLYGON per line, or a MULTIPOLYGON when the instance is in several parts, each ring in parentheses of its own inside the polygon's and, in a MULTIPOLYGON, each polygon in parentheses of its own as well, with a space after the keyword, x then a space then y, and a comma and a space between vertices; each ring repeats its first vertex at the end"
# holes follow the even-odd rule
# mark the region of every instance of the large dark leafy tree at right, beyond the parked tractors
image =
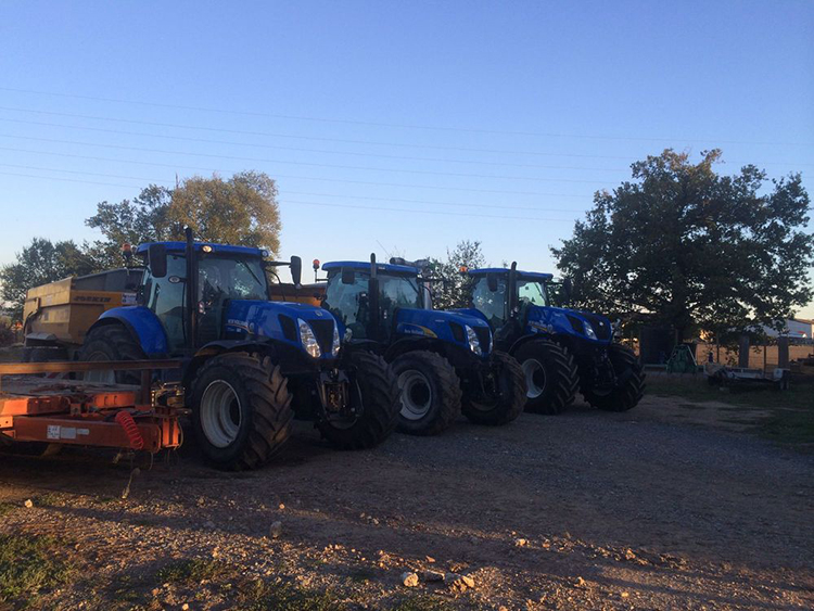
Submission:
POLYGON ((713 166, 721 151, 665 150, 632 165, 632 177, 594 196, 573 237, 551 252, 574 280, 578 305, 613 316, 645 314, 679 339, 791 316, 813 295, 809 195, 799 174, 767 180, 747 165, 713 166))

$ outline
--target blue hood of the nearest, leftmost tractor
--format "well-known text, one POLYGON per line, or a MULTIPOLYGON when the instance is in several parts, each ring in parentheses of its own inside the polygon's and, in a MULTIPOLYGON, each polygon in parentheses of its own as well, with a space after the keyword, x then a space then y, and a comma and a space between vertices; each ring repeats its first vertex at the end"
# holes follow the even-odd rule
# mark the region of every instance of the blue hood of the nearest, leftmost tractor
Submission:
POLYGON ((336 321, 328 310, 310 305, 233 300, 228 305, 225 331, 232 340, 270 339, 305 351, 301 320, 319 345, 319 358, 335 357, 336 321))

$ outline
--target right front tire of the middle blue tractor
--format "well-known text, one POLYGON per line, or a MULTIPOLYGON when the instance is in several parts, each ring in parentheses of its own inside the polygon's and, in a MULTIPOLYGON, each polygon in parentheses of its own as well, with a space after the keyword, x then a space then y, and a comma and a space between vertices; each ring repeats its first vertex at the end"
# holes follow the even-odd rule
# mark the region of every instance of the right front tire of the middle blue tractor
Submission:
POLYGON ((523 412, 525 407, 525 375, 514 357, 501 351, 493 351, 493 367, 497 369, 498 396, 487 403, 474 400, 463 392, 462 411, 475 424, 508 424, 523 412))

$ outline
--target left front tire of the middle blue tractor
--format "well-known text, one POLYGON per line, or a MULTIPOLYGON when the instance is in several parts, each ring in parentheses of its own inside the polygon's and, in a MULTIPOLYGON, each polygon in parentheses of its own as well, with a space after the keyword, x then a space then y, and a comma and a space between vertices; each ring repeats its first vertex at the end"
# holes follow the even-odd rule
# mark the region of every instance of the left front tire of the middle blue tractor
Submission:
POLYGON ((415 351, 396 357, 391 366, 402 391, 402 433, 437 435, 457 420, 461 413, 460 379, 446 358, 415 351), (421 405, 429 406, 423 413, 415 409, 421 405))

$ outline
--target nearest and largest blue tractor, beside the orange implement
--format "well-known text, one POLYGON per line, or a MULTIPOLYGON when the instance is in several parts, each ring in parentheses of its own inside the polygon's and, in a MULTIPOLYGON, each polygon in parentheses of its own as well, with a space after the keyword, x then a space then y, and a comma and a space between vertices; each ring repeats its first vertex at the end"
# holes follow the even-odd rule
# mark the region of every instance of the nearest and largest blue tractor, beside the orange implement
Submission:
MULTIPOLYGON (((259 249, 193 242, 189 231, 186 242, 142 244, 136 254, 136 305, 106 310, 78 358, 180 359, 196 441, 216 467, 265 463, 295 416, 340 448, 374 446, 395 429, 387 364, 342 346, 325 309, 270 301, 277 266, 290 265, 300 283, 298 257, 270 262, 259 249)), ((126 371, 107 381, 136 382, 126 371)))

